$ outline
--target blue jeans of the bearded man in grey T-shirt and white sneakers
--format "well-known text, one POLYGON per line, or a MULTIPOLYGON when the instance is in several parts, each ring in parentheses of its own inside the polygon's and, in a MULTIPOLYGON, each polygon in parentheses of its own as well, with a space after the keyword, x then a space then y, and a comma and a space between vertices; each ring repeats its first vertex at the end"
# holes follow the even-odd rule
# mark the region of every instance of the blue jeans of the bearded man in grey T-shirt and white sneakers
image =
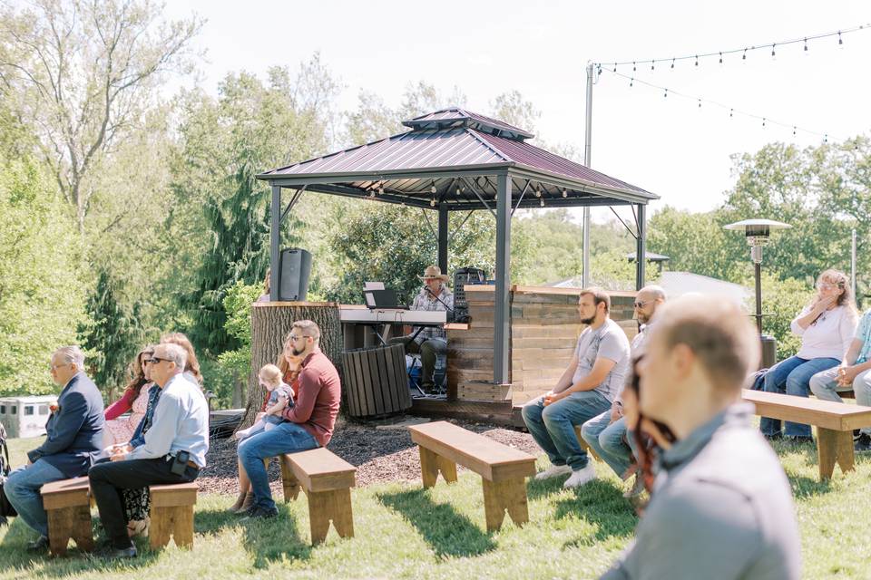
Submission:
POLYGON ((544 406, 544 396, 527 402, 521 410, 526 428, 553 465, 568 465, 573 471, 587 467, 587 452, 574 433, 593 417, 611 409, 611 401, 599 391, 578 391, 544 406))

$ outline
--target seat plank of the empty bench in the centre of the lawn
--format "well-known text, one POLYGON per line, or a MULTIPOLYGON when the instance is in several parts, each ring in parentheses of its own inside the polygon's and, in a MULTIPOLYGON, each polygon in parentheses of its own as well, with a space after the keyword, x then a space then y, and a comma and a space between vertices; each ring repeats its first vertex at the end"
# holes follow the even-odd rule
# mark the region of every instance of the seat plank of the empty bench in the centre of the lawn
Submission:
POLYGON ((535 458, 444 420, 408 427, 411 440, 437 455, 498 481, 535 475, 535 458))

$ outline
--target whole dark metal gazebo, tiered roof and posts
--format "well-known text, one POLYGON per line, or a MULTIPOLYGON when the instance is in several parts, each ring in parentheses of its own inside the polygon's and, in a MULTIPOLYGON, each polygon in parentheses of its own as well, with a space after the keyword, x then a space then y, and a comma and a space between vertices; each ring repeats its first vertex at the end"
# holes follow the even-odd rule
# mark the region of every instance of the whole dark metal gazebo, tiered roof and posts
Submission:
MULTIPOLYGON (((496 219, 494 382, 510 373, 511 218, 518 208, 631 206, 638 256, 646 254, 645 208, 659 197, 526 142, 533 134, 451 107, 403 121, 409 131, 272 169, 270 258, 279 263, 280 225, 306 191, 437 212, 438 266, 447 271, 448 212, 487 210, 496 219), (282 189, 292 189, 287 205, 282 189)), ((645 260, 636 264, 644 285, 645 260)), ((279 268, 272 268, 273 301, 279 268)))

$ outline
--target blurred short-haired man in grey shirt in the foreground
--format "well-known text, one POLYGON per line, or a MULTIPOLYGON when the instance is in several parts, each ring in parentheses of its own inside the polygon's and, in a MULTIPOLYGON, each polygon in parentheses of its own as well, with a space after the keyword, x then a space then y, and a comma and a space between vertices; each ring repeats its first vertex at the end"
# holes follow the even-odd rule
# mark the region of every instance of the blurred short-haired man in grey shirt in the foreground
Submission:
POLYGON ((704 296, 661 306, 639 362, 641 429, 657 420, 676 440, 661 452, 635 541, 602 578, 799 577, 788 480, 740 402, 758 360, 738 306, 704 296))

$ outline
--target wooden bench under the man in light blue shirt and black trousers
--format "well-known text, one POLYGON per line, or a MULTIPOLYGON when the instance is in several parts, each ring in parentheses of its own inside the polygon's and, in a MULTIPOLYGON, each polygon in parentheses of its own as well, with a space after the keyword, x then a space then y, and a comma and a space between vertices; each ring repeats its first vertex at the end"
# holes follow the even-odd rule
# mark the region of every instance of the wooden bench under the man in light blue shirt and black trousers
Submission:
POLYGON ((161 548, 175 538, 179 547, 193 546, 193 506, 197 503, 197 484, 176 483, 150 486, 151 525, 148 540, 152 549, 161 548))

